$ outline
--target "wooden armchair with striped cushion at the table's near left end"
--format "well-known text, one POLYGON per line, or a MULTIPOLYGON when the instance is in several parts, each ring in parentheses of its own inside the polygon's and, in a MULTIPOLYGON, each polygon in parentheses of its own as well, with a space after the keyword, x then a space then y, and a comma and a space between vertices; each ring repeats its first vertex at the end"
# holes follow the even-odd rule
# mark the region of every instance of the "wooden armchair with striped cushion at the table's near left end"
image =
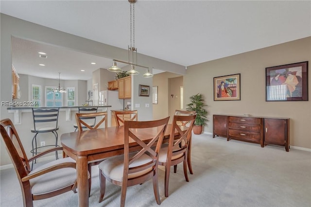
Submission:
POLYGON ((50 198, 69 190, 76 192, 76 163, 70 157, 54 160, 34 170, 29 164, 42 155, 62 150, 62 147, 46 150, 28 159, 10 119, 0 121, 0 131, 17 173, 24 207, 33 207, 34 200, 50 198))

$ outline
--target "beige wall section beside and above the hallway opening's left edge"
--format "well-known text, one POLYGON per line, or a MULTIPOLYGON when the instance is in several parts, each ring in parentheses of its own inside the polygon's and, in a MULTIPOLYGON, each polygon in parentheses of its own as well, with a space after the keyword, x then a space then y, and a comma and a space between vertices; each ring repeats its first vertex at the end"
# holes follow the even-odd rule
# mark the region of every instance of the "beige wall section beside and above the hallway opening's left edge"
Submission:
POLYGON ((162 72, 153 77, 153 86, 157 87, 158 104, 153 104, 153 119, 162 119, 170 116, 169 114, 169 79, 180 76, 171 72, 162 72))

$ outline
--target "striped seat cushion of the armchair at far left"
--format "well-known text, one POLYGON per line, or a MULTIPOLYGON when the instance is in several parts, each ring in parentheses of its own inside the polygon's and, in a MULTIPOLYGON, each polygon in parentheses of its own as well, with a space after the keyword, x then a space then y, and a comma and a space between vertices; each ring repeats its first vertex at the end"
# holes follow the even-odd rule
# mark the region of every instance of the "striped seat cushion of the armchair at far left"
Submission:
MULTIPOLYGON (((73 162, 74 159, 70 157, 66 157, 63 159, 57 159, 38 168, 35 168, 29 174, 36 173, 40 170, 48 168, 53 165, 57 165, 64 162, 73 162)), ((55 190, 59 190, 65 187, 68 187, 76 182, 77 173, 74 168, 62 168, 56 171, 52 171, 50 173, 45 173, 33 179, 30 179, 30 185, 32 187, 32 194, 40 195, 48 192, 53 192, 55 190)))

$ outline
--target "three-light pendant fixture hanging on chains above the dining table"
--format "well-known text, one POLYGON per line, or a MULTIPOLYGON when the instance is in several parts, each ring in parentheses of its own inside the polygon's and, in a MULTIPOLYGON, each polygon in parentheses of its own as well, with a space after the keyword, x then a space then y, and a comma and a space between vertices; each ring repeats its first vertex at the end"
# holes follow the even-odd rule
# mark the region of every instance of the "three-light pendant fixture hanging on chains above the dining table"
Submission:
POLYGON ((111 72, 120 72, 121 68, 117 66, 117 62, 127 63, 131 65, 131 69, 126 72, 129 75, 137 75, 139 72, 135 69, 135 66, 147 69, 146 73, 143 74, 143 77, 149 78, 154 76, 149 72, 149 68, 145 66, 140 66, 137 64, 137 48, 135 48, 135 2, 136 0, 128 0, 130 2, 130 45, 127 47, 128 52, 128 62, 113 59, 113 66, 108 68, 111 72), (132 14, 133 11, 133 14, 132 14), (133 27, 132 27, 133 26, 133 27), (132 39, 133 37, 133 39, 132 39), (136 58, 135 58, 136 57, 136 58), (130 61, 132 59, 132 62, 130 61), (134 63, 134 59, 136 59, 136 63, 134 63))

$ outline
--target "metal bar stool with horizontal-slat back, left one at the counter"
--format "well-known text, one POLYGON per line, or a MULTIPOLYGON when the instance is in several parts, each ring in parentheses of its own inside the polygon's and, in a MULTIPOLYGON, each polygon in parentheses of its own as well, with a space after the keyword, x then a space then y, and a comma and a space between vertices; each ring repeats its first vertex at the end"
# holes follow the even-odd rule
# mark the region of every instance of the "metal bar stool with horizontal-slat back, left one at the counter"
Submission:
MULTIPOLYGON (((34 109, 33 111, 33 119, 34 119, 34 127, 31 129, 31 132, 35 133, 35 136, 32 140, 32 147, 33 149, 30 151, 33 156, 40 153, 38 149, 43 147, 58 147, 57 140, 58 134, 57 130, 59 129, 57 126, 58 122, 58 112, 59 108, 52 108, 52 109, 34 109), (55 144, 54 145, 45 145, 45 146, 37 146, 37 135, 39 133, 48 133, 52 132, 55 136, 55 144), (35 146, 34 146, 35 144, 35 146)), ((57 151, 55 151, 55 157, 58 159, 57 151)), ((34 160, 36 163, 36 159, 34 160)), ((32 162, 31 169, 33 169, 34 161, 32 162)))

